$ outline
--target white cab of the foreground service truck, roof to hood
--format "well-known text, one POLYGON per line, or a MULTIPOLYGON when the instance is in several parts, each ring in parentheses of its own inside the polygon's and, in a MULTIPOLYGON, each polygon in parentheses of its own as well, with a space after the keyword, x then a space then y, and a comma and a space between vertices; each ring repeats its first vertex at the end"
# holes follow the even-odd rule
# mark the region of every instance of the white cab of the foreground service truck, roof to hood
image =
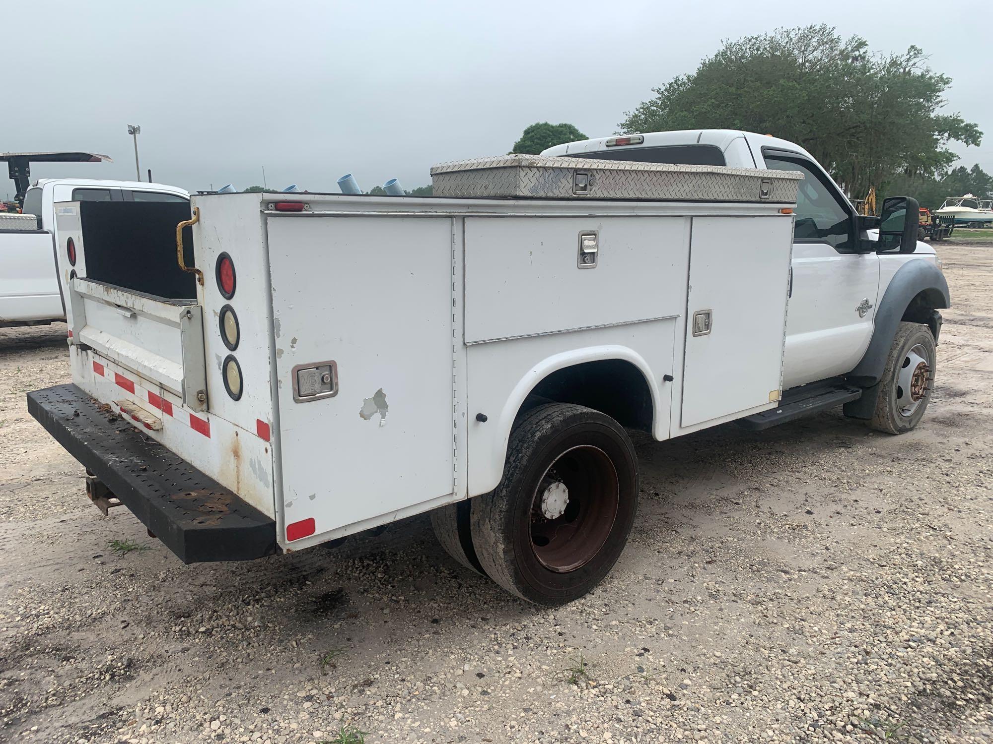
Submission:
POLYGON ((753 132, 697 129, 571 142, 549 148, 542 155, 802 173, 793 224, 782 360, 786 389, 844 376, 872 383, 883 345, 889 349, 895 332, 895 312, 897 322, 925 323, 937 338, 940 314, 936 309, 947 306, 940 305, 938 297, 941 292, 946 297, 943 278, 932 276, 940 274, 933 248, 918 242, 913 253, 882 249, 873 239, 876 220, 859 215, 824 168, 795 143, 753 132), (913 264, 922 263, 927 266, 915 271, 913 264), (888 301, 888 305, 904 305, 899 311, 887 310, 888 322, 878 328, 883 300, 894 278, 909 265, 910 273, 926 274, 938 287, 926 293, 930 288, 919 282, 907 283, 905 274, 888 301), (906 296, 911 289, 905 288, 905 283, 917 288, 910 298, 906 296), (918 298, 920 292, 925 295, 918 298), (865 367, 869 365, 859 367, 874 338, 879 348, 872 350, 872 372, 867 373, 865 367))

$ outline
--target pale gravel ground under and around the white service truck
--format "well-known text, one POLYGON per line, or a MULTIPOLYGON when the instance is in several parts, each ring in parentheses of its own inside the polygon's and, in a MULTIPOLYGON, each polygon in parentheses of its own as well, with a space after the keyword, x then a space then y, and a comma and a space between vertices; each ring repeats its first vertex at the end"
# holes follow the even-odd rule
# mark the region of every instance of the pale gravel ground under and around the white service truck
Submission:
POLYGON ((990 741, 993 246, 938 250, 956 307, 916 432, 639 436, 632 542, 554 610, 423 517, 183 565, 25 410, 69 379, 65 326, 0 329, 0 740, 990 741))

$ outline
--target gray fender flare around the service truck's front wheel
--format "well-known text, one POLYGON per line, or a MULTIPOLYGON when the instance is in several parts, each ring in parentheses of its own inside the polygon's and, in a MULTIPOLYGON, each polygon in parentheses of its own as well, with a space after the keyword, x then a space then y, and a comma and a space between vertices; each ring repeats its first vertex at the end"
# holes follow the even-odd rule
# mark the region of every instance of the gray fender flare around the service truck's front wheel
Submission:
POLYGON ((911 259, 890 280, 876 310, 875 330, 869 348, 855 369, 845 375, 849 381, 866 388, 859 400, 845 404, 845 414, 848 416, 858 419, 872 417, 879 395, 879 381, 883 377, 893 337, 905 313, 919 295, 922 295, 923 302, 920 309, 915 309, 920 314, 915 319, 929 325, 934 333, 934 340, 937 341, 941 316, 934 310, 951 307, 948 283, 940 269, 930 261, 911 259))

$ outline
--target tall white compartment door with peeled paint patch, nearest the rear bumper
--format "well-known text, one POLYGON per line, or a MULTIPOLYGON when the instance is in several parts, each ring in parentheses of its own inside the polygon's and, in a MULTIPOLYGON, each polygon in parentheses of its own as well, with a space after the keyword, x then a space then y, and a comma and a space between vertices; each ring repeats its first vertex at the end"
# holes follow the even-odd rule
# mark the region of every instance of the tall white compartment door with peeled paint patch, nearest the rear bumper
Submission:
POLYGON ((288 215, 267 229, 281 542, 451 494, 451 219, 288 215))

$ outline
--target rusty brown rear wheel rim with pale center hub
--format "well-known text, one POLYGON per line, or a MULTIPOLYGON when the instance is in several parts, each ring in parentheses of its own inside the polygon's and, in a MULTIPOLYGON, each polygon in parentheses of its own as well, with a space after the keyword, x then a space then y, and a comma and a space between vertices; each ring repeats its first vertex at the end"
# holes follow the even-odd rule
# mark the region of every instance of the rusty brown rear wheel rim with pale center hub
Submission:
POLYGON ((604 547, 617 519, 621 486, 607 452, 584 444, 562 452, 531 498, 535 558, 549 570, 576 570, 604 547))

